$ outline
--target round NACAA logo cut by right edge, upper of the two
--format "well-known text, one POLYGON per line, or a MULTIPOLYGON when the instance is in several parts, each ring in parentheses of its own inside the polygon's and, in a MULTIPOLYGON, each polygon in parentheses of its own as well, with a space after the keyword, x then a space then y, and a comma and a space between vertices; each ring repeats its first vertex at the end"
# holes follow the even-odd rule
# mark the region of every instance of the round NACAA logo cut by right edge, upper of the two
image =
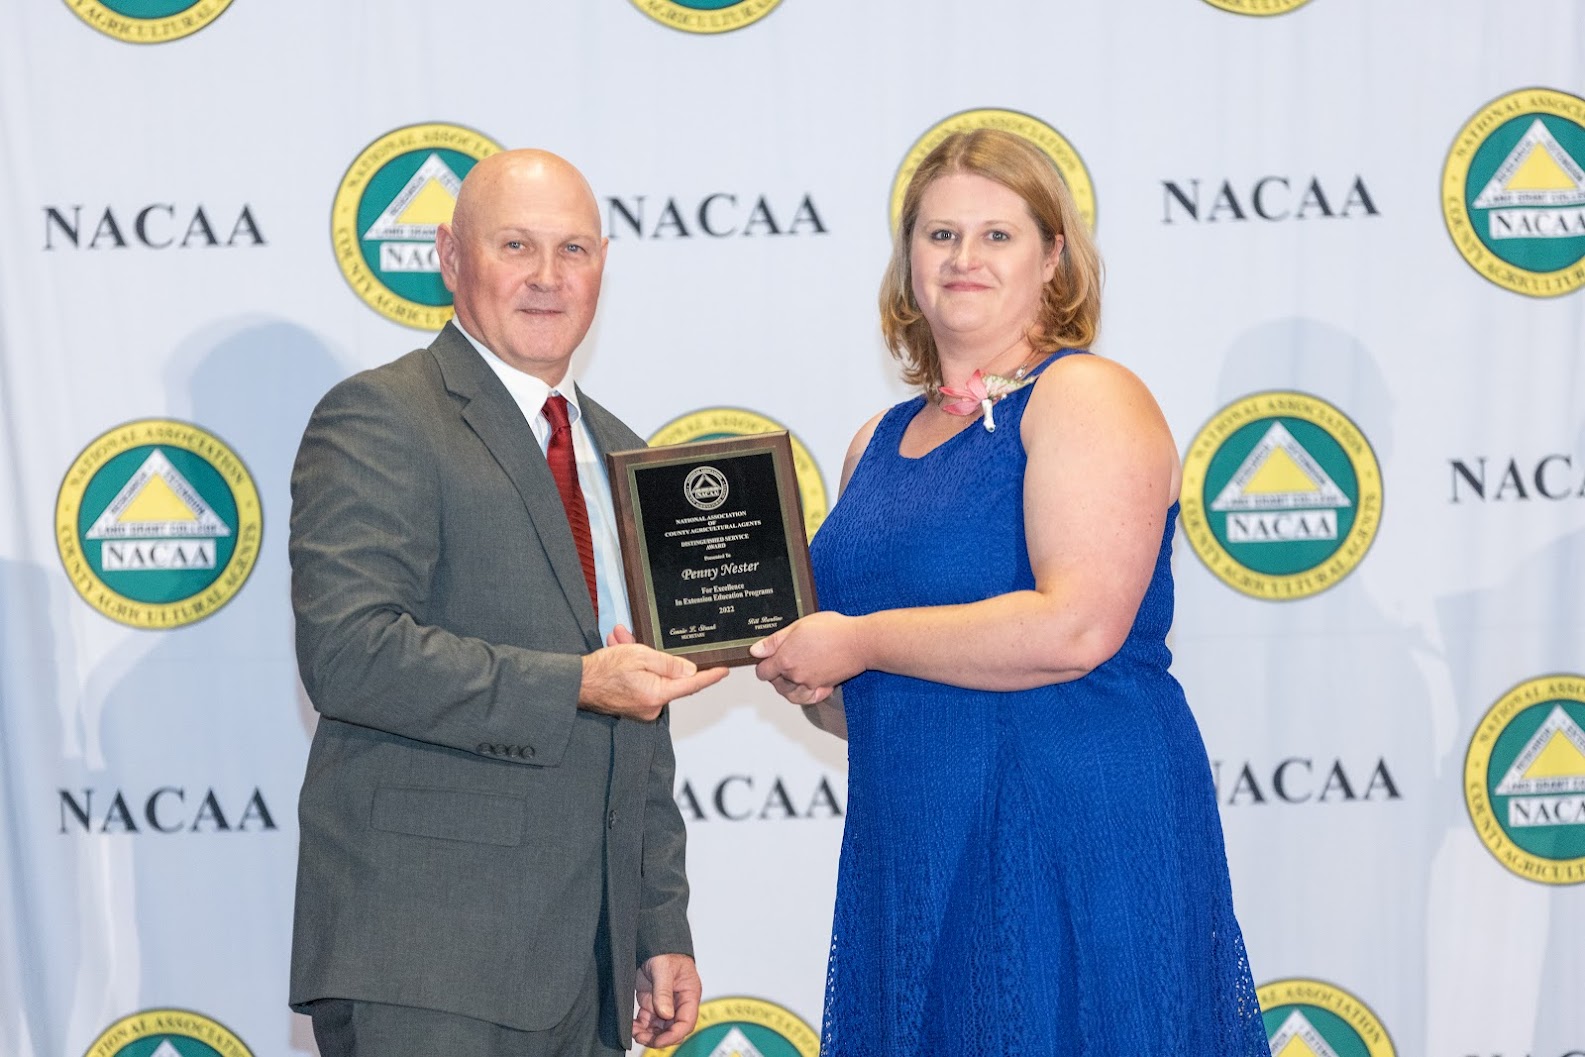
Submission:
POLYGON ((1453 138, 1442 219, 1469 266, 1533 298, 1585 287, 1585 98, 1520 89, 1453 138))

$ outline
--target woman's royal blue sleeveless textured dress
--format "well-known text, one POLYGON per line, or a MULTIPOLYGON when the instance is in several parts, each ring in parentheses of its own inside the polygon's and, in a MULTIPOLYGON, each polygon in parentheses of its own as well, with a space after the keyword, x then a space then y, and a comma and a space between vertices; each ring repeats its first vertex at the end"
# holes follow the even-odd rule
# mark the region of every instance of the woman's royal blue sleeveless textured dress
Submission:
MULTIPOLYGON (((1032 388, 995 406, 995 433, 973 425, 916 460, 897 445, 924 398, 884 415, 815 536, 823 609, 1035 586, 1032 388)), ((1270 1057, 1209 762, 1167 670, 1174 518, 1127 642, 1089 675, 1016 693, 883 672, 843 685, 824 1057, 1270 1057)))

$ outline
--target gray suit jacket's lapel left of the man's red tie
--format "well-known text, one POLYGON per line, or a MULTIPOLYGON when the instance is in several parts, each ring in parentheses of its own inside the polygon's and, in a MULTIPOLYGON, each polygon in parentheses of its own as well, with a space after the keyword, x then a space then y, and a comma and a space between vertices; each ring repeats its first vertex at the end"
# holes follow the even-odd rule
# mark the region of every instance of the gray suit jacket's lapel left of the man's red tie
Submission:
POLYGON ((447 325, 436 336, 430 355, 441 366, 447 391, 464 401, 463 422, 490 448, 490 455, 521 496, 561 593, 579 618, 585 642, 591 650, 599 648, 599 624, 594 621, 594 605, 590 604, 588 585, 583 582, 583 566, 572 544, 567 512, 561 506, 556 479, 545 464, 545 453, 539 450, 533 431, 523 422, 523 412, 501 379, 455 326, 447 325))

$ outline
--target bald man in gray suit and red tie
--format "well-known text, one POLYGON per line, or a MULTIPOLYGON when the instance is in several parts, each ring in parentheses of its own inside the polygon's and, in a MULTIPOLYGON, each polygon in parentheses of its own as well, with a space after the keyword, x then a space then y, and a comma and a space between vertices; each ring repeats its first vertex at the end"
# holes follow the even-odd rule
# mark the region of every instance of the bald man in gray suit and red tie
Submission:
POLYGON ((666 705, 726 670, 624 626, 602 456, 644 441, 567 379, 599 209, 509 151, 436 249, 455 320, 333 388, 292 474, 290 1002, 325 1057, 670 1046, 701 986, 666 705))

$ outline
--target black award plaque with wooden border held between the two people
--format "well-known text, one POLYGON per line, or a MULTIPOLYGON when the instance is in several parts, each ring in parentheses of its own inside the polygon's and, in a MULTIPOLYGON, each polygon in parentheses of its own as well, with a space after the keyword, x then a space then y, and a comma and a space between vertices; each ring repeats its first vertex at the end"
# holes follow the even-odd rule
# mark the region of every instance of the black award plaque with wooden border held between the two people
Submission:
POLYGON ((699 667, 813 612, 804 509, 786 433, 612 452, 632 634, 699 667))

